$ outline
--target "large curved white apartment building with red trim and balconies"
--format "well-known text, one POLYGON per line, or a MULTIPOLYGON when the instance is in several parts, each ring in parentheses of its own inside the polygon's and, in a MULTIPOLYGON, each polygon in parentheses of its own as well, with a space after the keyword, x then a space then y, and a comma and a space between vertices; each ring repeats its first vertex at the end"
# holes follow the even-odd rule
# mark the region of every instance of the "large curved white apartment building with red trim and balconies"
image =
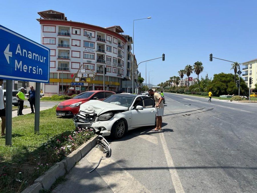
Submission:
POLYGON ((45 95, 125 90, 122 81, 132 80, 133 41, 129 35, 122 35, 120 26, 104 28, 68 21, 64 13, 54 10, 38 14, 41 44, 51 50, 45 95))

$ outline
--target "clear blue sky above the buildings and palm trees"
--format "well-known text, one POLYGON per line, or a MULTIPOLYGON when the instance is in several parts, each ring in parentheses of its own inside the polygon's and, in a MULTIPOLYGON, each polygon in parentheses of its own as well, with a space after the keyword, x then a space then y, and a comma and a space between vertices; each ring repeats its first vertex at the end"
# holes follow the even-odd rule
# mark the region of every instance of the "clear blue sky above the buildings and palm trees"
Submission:
MULTIPOLYGON (((203 63, 203 77, 208 73, 234 73, 231 63, 213 57, 243 63, 257 58, 257 1, 187 0, 187 1, 3 1, 0 24, 40 43, 39 11, 53 9, 65 13, 68 20, 101 27, 120 25, 123 34, 133 35, 134 54, 145 79, 164 82, 196 61, 203 63), (90 2, 90 3, 89 3, 90 2), (154 71, 152 71, 154 70, 154 71)), ((190 76, 197 77, 195 73, 190 76)))

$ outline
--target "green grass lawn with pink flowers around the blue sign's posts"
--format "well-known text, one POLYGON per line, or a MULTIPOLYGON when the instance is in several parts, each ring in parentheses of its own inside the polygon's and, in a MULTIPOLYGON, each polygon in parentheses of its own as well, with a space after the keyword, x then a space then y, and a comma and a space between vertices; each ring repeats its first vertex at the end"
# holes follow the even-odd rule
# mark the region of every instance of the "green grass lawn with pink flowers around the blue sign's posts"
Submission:
POLYGON ((40 112, 39 133, 34 133, 35 114, 27 114, 12 119, 12 146, 5 146, 5 137, 0 137, 0 192, 21 192, 71 152, 58 146, 72 143, 74 150, 94 135, 74 137, 73 120, 58 118, 55 109, 40 112), (80 141, 76 144, 70 135, 80 141))

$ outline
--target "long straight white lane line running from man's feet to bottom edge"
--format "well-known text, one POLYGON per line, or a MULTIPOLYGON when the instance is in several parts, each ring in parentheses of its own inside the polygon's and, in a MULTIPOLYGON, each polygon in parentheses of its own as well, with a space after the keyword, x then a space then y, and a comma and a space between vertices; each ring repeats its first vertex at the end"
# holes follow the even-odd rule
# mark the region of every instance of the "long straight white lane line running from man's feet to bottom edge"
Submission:
MULTIPOLYGON (((183 186, 182 186, 182 184, 180 182, 177 170, 176 169, 172 169, 175 166, 174 166, 174 162, 172 160, 172 157, 170 155, 170 152, 168 150, 168 146, 167 146, 167 143, 165 141, 163 132, 160 133, 160 141, 162 143, 162 148, 164 150, 164 155, 165 155, 165 158, 166 158, 166 161, 167 161, 167 165, 170 168, 169 169, 170 176, 171 176, 171 180, 172 180, 175 192, 176 193, 184 193, 184 189, 183 189, 183 186)), ((168 181, 166 183, 168 183, 168 181)))

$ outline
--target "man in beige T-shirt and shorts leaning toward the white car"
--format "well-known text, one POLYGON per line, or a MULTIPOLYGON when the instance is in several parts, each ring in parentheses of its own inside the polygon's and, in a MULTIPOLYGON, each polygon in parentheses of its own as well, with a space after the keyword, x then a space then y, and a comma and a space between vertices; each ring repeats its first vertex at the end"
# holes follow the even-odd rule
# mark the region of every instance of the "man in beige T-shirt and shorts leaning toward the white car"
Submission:
POLYGON ((157 111, 156 128, 152 129, 152 131, 162 131, 162 116, 164 114, 164 105, 162 103, 162 96, 159 93, 154 92, 152 89, 149 89, 148 93, 150 94, 150 96, 154 97, 155 107, 157 111))

